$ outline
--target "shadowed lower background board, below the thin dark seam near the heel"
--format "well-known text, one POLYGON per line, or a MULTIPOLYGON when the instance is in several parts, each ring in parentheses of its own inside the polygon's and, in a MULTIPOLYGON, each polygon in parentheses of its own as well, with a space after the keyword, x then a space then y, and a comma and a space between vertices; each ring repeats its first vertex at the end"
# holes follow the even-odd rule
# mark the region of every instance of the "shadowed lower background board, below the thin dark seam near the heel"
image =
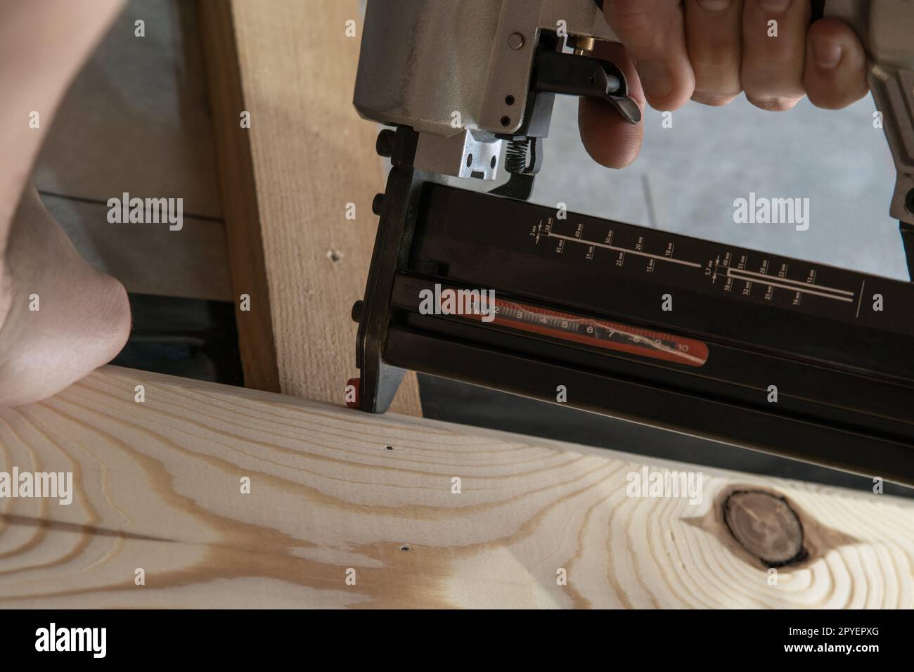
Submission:
POLYGON ((185 216, 180 230, 111 224, 108 207, 67 197, 41 197, 80 254, 128 292, 233 301, 225 227, 185 216))

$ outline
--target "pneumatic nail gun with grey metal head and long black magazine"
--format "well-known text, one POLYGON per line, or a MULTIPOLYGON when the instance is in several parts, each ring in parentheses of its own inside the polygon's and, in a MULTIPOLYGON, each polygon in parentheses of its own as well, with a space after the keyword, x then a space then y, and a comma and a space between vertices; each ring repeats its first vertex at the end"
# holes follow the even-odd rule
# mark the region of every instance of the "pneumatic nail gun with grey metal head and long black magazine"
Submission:
MULTIPOLYGON (((914 485, 914 285, 526 203, 555 95, 640 120, 592 56, 615 41, 598 5, 369 0, 356 109, 396 130, 353 307, 359 407, 386 411, 412 369, 914 485), (503 169, 489 194, 444 184, 503 169)), ((872 59, 910 265, 914 3, 824 13, 872 59)))

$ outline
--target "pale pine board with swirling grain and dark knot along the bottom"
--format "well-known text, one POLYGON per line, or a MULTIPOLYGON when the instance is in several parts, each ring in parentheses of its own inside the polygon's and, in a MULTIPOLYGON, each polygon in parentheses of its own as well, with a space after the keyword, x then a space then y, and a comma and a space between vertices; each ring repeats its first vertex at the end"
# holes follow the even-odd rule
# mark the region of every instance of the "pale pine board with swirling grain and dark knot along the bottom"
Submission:
MULTIPOLYGON (((69 506, 0 499, 2 606, 914 605, 891 496, 702 467, 698 504, 634 497, 645 467, 699 468, 117 368, 0 410, 0 445, 3 471, 75 483, 69 506), (802 525, 776 585, 723 519, 741 491, 802 525)), ((742 513, 762 541, 790 527, 742 513)))

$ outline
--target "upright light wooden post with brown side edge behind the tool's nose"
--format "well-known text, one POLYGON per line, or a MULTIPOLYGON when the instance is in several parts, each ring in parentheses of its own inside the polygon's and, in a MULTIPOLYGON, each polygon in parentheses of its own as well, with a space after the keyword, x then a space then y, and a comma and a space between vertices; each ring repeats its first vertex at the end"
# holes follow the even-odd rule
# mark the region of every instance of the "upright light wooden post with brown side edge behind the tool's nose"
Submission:
MULTIPOLYGON (((383 191, 375 124, 352 106, 356 0, 200 4, 218 165, 250 387, 339 402, 356 373, 352 304, 365 290, 383 191), (250 129, 241 112, 250 112, 250 129), (356 219, 346 219, 355 204, 356 219)), ((394 409, 420 412, 409 374, 394 409)))

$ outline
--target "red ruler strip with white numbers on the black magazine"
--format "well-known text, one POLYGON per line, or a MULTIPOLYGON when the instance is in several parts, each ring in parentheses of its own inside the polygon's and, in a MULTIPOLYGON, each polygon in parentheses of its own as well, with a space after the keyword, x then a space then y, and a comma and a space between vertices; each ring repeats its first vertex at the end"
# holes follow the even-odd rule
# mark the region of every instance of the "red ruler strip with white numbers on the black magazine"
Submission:
MULTIPOLYGON (((485 308, 485 298, 481 302, 485 308)), ((484 313, 486 311, 484 310, 484 313)), ((484 315, 463 315, 482 321, 484 315)), ((488 317, 488 315, 485 315, 488 317)), ((707 362, 707 345, 692 338, 640 329, 618 322, 594 320, 580 315, 557 313, 532 305, 495 299, 494 320, 486 324, 506 326, 586 346, 604 347, 641 357, 700 367, 707 362)))

